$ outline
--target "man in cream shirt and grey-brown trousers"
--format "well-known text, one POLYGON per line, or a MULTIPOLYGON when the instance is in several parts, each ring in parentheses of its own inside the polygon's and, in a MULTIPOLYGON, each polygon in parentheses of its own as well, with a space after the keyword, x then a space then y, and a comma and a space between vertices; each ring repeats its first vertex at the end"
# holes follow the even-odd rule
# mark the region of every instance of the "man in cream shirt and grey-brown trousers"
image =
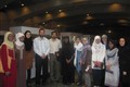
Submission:
POLYGON ((51 80, 60 80, 60 49, 62 48, 61 40, 57 39, 57 33, 51 33, 50 41, 50 76, 51 80))

